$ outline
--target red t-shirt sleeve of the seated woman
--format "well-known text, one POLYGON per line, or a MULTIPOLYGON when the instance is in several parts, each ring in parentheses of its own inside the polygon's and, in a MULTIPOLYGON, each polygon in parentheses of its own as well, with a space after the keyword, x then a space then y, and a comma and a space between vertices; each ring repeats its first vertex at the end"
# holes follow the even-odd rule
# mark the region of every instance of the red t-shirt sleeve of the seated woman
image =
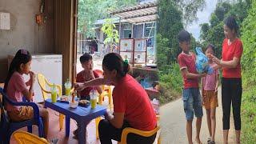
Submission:
POLYGON ((126 111, 126 99, 122 94, 122 90, 113 90, 113 104, 115 113, 125 113, 126 111))

